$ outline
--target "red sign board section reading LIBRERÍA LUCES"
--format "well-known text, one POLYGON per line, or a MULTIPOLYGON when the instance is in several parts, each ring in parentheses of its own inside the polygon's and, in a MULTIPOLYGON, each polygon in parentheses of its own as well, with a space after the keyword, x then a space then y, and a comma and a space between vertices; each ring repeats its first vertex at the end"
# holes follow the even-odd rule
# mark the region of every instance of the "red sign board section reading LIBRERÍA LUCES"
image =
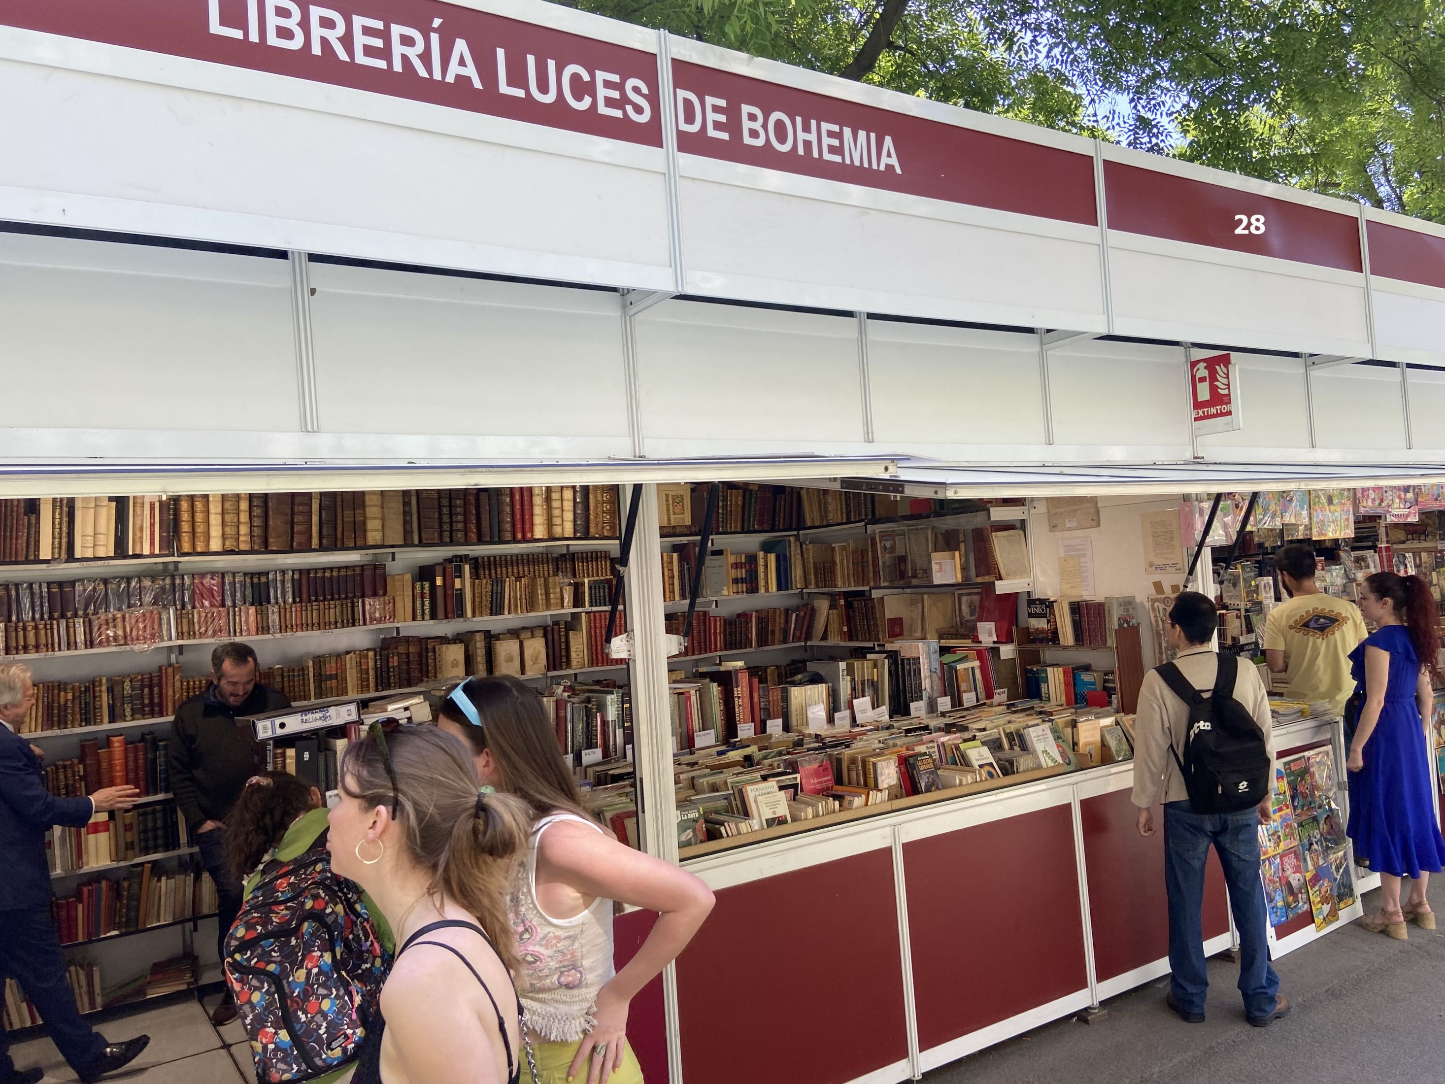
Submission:
POLYGON ((662 146, 655 53, 438 0, 4 0, 0 23, 662 146))

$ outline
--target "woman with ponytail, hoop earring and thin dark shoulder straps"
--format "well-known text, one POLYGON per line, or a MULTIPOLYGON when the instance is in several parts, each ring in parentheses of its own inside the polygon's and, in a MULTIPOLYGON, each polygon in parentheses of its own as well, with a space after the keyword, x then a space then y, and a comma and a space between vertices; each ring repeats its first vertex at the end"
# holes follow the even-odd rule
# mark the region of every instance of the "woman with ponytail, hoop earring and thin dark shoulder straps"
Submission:
POLYGON ((483 793, 467 749, 431 726, 373 724, 347 746, 340 776, 332 864, 371 895, 399 945, 381 989, 386 1031, 353 1084, 516 1084, 525 1052, 504 893, 525 806, 483 793))

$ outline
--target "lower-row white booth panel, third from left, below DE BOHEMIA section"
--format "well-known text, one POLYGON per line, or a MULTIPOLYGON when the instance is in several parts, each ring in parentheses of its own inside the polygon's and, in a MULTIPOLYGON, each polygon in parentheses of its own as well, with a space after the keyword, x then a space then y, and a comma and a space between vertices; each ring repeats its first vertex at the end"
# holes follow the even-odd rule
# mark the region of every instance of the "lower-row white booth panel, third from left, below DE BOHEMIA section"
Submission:
POLYGON ((634 328, 649 455, 863 439, 854 319, 669 301, 634 328))

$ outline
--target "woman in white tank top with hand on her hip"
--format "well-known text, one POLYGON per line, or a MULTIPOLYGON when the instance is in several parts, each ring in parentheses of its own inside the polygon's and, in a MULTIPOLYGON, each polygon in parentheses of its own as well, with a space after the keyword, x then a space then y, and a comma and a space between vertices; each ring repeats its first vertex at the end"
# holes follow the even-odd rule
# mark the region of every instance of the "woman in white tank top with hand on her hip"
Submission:
POLYGON ((692 939, 712 909, 698 877, 633 850, 592 820, 562 759, 542 698, 514 678, 468 678, 438 726, 468 744, 483 783, 532 809, 532 846, 509 911, 517 991, 542 1084, 642 1084, 627 1007, 692 939), (657 912, 637 954, 613 968, 613 905, 657 912))

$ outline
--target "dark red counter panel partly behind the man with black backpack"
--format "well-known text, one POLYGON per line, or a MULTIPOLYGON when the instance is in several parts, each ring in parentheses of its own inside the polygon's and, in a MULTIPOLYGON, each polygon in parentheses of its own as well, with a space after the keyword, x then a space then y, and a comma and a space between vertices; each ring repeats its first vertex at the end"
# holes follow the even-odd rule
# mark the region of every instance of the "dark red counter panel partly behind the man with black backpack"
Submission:
MULTIPOLYGON (((1155 834, 1149 837, 1139 834, 1139 808, 1129 791, 1085 798, 1079 815, 1094 967, 1103 983, 1169 955, 1163 811, 1155 806, 1155 834)), ((1204 877, 1204 938, 1228 932, 1228 893, 1211 848, 1204 877)))

